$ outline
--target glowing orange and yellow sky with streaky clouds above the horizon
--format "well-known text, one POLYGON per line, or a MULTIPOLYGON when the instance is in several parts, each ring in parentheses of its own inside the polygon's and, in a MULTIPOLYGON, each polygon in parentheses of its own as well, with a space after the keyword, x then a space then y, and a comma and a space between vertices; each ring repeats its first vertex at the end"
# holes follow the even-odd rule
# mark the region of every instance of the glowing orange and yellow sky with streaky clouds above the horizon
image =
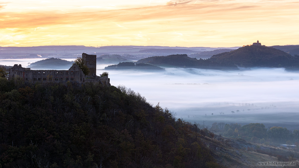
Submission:
POLYGON ((298 0, 0 0, 0 46, 299 45, 298 9, 298 0))

